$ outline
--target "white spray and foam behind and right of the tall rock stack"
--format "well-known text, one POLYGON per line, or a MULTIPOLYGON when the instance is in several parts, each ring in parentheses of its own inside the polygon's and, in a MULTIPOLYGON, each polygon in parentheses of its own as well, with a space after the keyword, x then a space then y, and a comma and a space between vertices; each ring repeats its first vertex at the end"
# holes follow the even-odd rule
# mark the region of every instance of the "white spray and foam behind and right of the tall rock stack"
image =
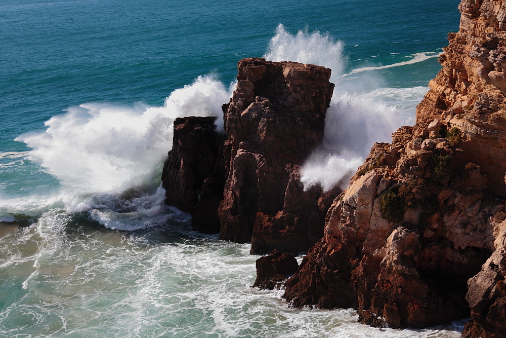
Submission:
POLYGON ((417 53, 408 61, 357 68, 343 74, 347 59, 343 56, 340 41, 318 31, 309 33, 307 28, 292 35, 283 25, 278 25, 264 57, 272 61, 288 60, 329 67, 332 69, 330 80, 335 83, 326 113, 322 148, 306 161, 302 169, 302 181, 306 188, 321 184, 324 190, 328 190, 338 183, 346 187, 374 142, 390 142, 391 133, 397 128, 414 123, 416 104, 428 90, 425 87, 368 90, 381 84, 381 80, 365 73, 347 81, 345 77, 366 70, 421 62, 437 55, 417 53))

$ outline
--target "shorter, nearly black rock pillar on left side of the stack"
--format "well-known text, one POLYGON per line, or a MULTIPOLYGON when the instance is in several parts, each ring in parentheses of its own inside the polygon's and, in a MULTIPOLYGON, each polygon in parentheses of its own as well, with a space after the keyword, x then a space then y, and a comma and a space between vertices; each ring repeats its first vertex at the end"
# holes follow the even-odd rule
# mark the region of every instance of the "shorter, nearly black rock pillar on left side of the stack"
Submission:
POLYGON ((194 230, 220 231, 218 206, 225 182, 223 140, 216 117, 185 117, 174 121, 172 150, 163 165, 166 204, 190 213, 194 230))

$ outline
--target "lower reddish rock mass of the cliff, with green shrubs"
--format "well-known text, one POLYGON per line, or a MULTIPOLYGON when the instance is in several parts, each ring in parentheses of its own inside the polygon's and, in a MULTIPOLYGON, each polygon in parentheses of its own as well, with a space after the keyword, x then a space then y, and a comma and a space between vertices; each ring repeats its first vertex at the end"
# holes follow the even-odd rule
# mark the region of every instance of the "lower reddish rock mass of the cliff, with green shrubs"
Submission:
POLYGON ((485 199, 480 167, 462 165, 454 147, 414 150, 411 137, 396 144, 403 152, 373 146, 332 203, 324 238, 286 282, 287 301, 354 306, 359 321, 374 326, 421 328, 469 317, 467 280, 490 255, 495 200, 485 199))

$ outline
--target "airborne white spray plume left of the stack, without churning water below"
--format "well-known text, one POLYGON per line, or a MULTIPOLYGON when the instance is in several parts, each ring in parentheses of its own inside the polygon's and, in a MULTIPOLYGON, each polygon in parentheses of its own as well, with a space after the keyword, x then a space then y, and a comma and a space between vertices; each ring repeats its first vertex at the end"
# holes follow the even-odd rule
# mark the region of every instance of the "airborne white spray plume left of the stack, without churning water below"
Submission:
POLYGON ((43 133, 16 138, 33 148, 27 158, 40 163, 69 190, 121 191, 152 179, 172 146, 173 121, 185 116, 217 116, 230 93, 212 76, 175 90, 162 107, 122 107, 86 103, 46 122, 43 133))

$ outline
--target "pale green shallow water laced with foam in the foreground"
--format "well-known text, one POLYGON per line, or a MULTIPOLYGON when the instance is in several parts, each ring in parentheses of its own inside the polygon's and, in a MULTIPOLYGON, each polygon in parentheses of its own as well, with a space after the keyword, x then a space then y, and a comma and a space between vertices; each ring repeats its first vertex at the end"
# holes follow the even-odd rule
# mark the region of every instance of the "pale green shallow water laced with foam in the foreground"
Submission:
POLYGON ((55 213, 0 239, 2 336, 457 337, 463 325, 380 331, 352 309, 290 309, 282 290, 249 287, 248 244, 184 221, 125 233, 55 213))

